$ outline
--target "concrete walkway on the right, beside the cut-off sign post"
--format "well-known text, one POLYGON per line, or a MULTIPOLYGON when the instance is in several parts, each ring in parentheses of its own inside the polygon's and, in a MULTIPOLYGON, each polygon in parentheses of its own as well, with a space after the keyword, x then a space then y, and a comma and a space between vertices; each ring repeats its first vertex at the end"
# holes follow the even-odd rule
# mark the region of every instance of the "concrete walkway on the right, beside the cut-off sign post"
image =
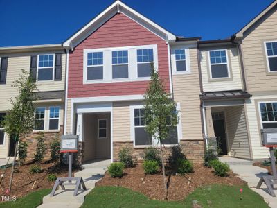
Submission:
MULTIPOLYGON (((238 174, 242 180, 247 182, 248 187, 251 188, 256 193, 259 193, 268 203, 269 207, 277 208, 277 197, 272 197, 268 191, 265 184, 262 184, 261 189, 256 189, 260 177, 267 175, 267 169, 260 168, 258 166, 253 166, 253 162, 245 159, 238 159, 234 157, 220 157, 220 161, 229 164, 233 173, 238 174)), ((277 196, 277 189, 275 190, 277 196)))

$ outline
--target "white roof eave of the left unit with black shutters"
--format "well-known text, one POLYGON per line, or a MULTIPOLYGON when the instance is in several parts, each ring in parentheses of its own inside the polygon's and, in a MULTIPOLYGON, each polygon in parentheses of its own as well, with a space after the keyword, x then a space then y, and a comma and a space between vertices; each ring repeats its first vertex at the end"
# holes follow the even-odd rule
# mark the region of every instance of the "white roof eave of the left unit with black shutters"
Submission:
POLYGON ((33 51, 57 51, 64 50, 62 44, 34 45, 34 46, 11 46, 0 47, 0 53, 24 53, 33 51))

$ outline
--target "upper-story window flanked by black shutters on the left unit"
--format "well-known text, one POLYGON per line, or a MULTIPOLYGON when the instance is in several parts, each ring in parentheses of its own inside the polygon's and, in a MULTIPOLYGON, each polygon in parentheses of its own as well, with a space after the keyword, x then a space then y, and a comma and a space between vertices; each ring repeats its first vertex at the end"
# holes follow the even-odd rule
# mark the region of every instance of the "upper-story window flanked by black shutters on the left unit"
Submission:
POLYGON ((54 55, 39 55, 37 67, 37 80, 53 80, 54 79, 54 55))

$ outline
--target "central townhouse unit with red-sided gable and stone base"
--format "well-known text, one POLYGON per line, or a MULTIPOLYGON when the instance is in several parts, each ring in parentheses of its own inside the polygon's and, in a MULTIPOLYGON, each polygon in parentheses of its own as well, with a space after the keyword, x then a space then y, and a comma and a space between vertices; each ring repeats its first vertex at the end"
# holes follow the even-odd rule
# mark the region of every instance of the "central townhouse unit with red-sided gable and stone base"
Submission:
POLYGON ((117 160, 123 146, 141 159, 144 148, 157 145, 143 119, 151 62, 166 90, 174 92, 181 118, 163 144, 181 144, 188 158, 202 159, 197 40, 177 38, 115 1, 64 42, 69 51, 64 134, 79 135, 80 163, 117 160))

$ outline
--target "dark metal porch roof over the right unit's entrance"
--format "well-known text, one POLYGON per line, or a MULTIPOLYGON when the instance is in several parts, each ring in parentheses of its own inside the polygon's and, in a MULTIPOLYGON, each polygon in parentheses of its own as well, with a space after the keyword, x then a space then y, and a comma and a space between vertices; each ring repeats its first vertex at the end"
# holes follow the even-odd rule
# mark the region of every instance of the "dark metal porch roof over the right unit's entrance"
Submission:
POLYGON ((220 92, 204 92, 200 95, 202 101, 226 101, 250 98, 251 94, 242 90, 220 91, 220 92))

